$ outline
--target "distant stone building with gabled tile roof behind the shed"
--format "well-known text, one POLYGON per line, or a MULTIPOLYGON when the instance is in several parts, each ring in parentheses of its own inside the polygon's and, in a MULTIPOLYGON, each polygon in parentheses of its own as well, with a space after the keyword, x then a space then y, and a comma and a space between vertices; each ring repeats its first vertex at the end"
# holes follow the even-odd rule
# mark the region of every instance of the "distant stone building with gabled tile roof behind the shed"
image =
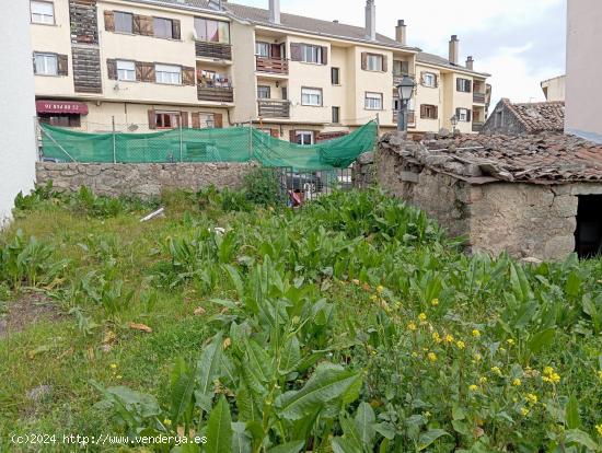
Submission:
POLYGON ((482 133, 562 133, 564 129, 564 102, 512 104, 502 98, 483 125, 482 133))

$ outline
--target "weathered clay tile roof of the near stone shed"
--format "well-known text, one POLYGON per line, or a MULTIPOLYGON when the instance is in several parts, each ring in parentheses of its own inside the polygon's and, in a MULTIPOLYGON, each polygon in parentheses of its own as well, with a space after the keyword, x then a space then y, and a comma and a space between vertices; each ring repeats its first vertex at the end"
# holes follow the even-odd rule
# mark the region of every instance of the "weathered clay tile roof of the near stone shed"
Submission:
MULTIPOLYGON (((391 140, 391 137, 385 136, 382 141, 391 140)), ((390 144, 384 147, 396 148, 390 144)), ((602 144, 575 136, 464 135, 425 140, 396 152, 412 163, 453 175, 471 184, 500 181, 526 184, 602 184, 602 144)))

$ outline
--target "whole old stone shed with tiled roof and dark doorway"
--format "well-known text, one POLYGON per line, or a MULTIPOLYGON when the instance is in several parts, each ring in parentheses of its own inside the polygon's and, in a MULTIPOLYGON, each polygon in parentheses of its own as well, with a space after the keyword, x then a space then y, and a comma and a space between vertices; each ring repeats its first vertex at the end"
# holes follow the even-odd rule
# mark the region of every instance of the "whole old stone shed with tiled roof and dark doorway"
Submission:
POLYGON ((424 209, 471 252, 563 259, 602 252, 602 146, 563 135, 384 136, 389 193, 424 209))

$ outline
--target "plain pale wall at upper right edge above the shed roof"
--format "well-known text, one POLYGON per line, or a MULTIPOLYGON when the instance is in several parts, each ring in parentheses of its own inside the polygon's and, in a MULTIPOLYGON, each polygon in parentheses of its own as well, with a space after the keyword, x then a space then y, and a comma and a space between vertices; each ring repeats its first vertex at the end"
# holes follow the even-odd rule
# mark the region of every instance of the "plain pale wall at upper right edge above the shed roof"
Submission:
POLYGON ((568 0, 565 131, 602 143, 602 1, 568 0))

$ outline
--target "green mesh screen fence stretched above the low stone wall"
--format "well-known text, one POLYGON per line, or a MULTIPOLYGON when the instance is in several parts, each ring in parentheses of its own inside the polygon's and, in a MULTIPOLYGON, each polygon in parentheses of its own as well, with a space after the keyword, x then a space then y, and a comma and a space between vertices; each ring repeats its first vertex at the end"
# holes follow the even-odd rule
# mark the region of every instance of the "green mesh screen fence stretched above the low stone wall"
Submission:
POLYGON ((349 166, 371 151, 375 121, 348 136, 313 146, 278 140, 248 127, 171 129, 151 133, 88 133, 42 125, 43 155, 62 162, 250 162, 297 170, 349 166))

